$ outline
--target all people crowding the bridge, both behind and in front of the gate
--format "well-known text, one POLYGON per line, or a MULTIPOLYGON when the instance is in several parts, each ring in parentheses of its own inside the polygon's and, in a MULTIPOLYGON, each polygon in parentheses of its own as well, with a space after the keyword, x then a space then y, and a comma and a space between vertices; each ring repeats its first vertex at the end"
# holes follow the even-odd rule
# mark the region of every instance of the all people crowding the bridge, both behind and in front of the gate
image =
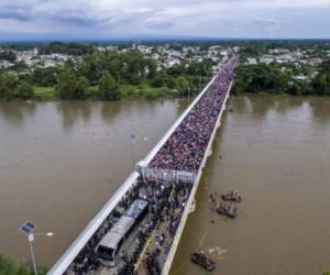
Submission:
MULTIPOLYGON (((232 80, 235 62, 235 58, 232 58, 223 66, 215 81, 158 151, 148 167, 193 173, 198 170, 232 80)), ((140 258, 146 240, 152 238, 152 231, 155 228, 158 229, 162 226, 165 229, 164 232, 155 238, 156 244, 144 260, 147 274, 160 274, 193 184, 193 182, 161 180, 158 178, 144 179, 141 175, 76 256, 66 274, 88 274, 100 267, 95 252, 97 244, 124 210, 139 197, 148 201, 150 215, 141 224, 145 230, 139 231, 138 244, 133 252, 121 255, 123 264, 118 268, 117 274, 134 274, 136 261, 140 258)))

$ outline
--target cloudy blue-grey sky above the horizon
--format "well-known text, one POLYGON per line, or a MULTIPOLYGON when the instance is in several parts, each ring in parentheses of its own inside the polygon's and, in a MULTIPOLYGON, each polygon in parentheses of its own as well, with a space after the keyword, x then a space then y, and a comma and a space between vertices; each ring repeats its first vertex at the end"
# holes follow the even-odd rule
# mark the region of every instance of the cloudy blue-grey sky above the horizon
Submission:
POLYGON ((0 41, 330 38, 330 0, 0 0, 0 41))

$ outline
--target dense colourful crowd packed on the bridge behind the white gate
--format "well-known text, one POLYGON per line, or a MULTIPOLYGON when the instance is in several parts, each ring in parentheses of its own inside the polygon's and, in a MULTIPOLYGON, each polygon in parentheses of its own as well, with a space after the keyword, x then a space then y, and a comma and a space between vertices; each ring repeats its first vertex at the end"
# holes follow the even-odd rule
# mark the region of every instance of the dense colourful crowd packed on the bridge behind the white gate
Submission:
POLYGON ((235 58, 226 64, 150 163, 150 167, 197 172, 233 78, 235 58))

